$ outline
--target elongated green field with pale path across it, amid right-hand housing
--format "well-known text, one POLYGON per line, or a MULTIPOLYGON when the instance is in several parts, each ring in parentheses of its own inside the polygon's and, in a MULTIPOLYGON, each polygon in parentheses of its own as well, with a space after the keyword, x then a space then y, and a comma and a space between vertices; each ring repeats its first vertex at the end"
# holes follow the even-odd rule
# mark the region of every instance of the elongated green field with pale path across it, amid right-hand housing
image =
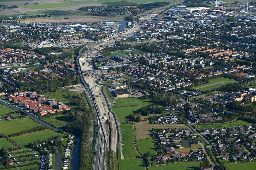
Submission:
POLYGON ((195 90, 206 91, 206 90, 210 90, 210 89, 213 89, 213 88, 221 87, 221 86, 226 85, 226 84, 232 84, 232 83, 235 83, 235 82, 238 82, 238 81, 233 80, 233 79, 228 79, 228 78, 225 78, 225 77, 220 77, 220 78, 217 78, 217 79, 209 80, 208 84, 204 84, 204 85, 201 85, 201 86, 194 87, 194 89, 195 90))

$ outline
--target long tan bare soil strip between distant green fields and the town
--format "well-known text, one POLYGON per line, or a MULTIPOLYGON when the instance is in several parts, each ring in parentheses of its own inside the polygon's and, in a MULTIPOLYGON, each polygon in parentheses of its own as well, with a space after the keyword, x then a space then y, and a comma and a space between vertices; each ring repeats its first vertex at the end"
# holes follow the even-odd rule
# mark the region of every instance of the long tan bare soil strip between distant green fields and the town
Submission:
POLYGON ((27 18, 20 20, 21 23, 26 22, 100 22, 100 21, 124 21, 123 17, 100 17, 100 16, 69 16, 69 19, 63 17, 56 18, 27 18))

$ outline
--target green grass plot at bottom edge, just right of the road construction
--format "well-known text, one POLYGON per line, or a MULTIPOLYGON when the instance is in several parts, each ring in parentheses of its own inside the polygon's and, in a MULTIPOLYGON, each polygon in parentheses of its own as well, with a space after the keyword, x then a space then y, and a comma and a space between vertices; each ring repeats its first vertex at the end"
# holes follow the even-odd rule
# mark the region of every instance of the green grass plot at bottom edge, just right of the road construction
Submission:
POLYGON ((119 169, 122 170, 145 170, 141 158, 119 159, 119 169))

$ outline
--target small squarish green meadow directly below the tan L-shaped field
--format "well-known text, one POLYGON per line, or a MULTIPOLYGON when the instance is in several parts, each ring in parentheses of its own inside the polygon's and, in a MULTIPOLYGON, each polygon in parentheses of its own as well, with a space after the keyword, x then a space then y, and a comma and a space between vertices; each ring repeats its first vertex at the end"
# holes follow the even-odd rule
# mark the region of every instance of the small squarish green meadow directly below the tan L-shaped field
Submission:
POLYGON ((151 138, 149 139, 141 139, 137 140, 137 147, 140 153, 143 155, 146 154, 147 151, 150 152, 151 155, 156 156, 155 146, 153 143, 153 140, 151 138))

